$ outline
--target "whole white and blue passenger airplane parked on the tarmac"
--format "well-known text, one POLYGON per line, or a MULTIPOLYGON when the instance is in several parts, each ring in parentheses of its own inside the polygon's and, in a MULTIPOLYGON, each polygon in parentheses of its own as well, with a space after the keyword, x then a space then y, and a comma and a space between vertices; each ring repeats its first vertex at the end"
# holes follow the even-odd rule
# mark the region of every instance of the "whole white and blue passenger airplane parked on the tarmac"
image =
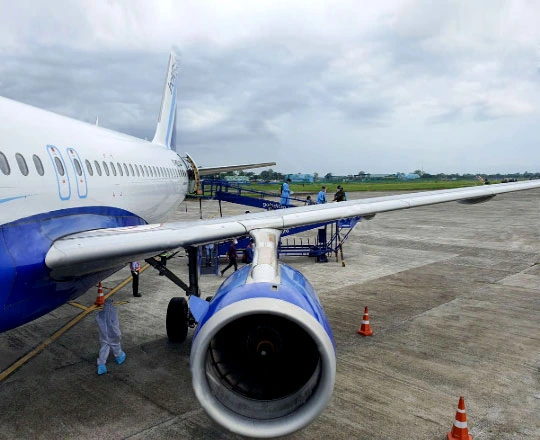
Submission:
MULTIPOLYGON (((192 384, 224 428, 270 438, 311 423, 332 396, 336 353, 309 281, 278 260, 282 231, 310 224, 540 188, 540 181, 417 192, 199 221, 167 222, 201 176, 273 165, 198 167, 175 146, 176 56, 145 141, 0 98, 0 331, 73 300, 130 261, 242 236, 253 262, 209 300, 171 298, 167 333, 185 340, 192 384)), ((190 268, 191 270, 191 268, 190 268)))

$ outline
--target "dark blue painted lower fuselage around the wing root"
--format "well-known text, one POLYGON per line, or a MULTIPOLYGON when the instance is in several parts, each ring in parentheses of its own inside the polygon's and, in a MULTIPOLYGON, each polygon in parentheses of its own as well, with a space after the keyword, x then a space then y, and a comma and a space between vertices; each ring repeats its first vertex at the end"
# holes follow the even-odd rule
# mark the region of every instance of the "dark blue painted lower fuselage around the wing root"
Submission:
POLYGON ((57 238, 92 229, 142 224, 145 222, 141 218, 128 211, 94 206, 42 213, 1 225, 0 332, 77 298, 117 270, 62 282, 51 279, 45 255, 57 238))

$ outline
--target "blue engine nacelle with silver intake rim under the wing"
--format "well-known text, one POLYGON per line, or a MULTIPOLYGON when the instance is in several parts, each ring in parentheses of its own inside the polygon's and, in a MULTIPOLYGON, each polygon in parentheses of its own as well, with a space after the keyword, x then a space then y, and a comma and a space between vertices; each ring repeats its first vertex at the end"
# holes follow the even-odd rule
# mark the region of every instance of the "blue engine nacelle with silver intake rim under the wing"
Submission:
POLYGON ((202 407, 232 432, 259 438, 308 425, 333 392, 336 356, 313 287, 280 264, 280 283, 235 272, 209 304, 193 337, 193 388, 202 407))

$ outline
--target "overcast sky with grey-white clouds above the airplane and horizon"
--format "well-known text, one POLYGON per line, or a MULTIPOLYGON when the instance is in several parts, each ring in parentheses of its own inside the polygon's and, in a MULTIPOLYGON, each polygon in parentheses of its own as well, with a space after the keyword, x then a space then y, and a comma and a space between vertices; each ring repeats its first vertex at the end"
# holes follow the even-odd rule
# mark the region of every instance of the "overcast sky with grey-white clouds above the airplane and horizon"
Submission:
POLYGON ((0 0, 0 95, 283 173, 540 171, 540 1, 0 0))

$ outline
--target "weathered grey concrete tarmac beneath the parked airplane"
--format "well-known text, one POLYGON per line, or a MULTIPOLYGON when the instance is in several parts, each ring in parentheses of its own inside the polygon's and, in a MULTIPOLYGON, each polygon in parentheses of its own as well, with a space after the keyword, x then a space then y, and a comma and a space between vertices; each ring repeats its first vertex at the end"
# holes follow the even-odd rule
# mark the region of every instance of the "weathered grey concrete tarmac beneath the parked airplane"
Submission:
MULTIPOLYGON (((368 197, 380 193, 350 194, 368 197)), ((219 216, 205 201, 203 217, 219 216)), ((223 205, 224 214, 242 206, 223 205)), ((249 208, 248 208, 249 209, 249 208)), ((251 211, 254 211, 251 209, 251 211)), ((175 219, 199 218, 184 202, 175 219)), ((315 237, 315 232, 304 237, 315 237)), ((475 440, 540 439, 540 191, 377 215, 331 258, 282 260, 320 295, 334 331, 337 380, 324 413, 294 440, 446 439, 465 396, 475 440), (372 337, 357 334, 369 306, 372 337)), ((168 263, 187 279, 184 252, 168 263)), ((104 283, 129 277, 123 269, 104 283)), ((202 276, 203 296, 223 280, 202 276)), ((170 344, 165 312, 182 292, 150 268, 114 295, 126 362, 96 375, 90 314, 0 383, 0 439, 238 439, 205 414, 189 349, 170 344)), ((92 291, 77 302, 90 306, 92 291)), ((0 335, 5 370, 81 313, 64 305, 0 335)))

